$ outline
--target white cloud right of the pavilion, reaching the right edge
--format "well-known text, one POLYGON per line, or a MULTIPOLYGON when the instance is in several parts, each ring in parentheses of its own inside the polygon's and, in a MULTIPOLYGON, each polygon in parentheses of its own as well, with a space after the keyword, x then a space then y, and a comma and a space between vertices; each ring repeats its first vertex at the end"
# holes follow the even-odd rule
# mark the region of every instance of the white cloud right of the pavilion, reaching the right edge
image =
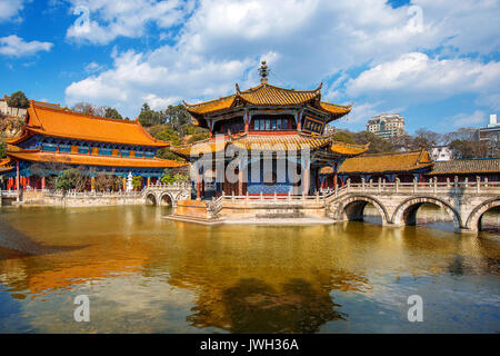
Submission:
POLYGON ((440 100, 457 93, 500 92, 500 62, 470 59, 432 59, 411 52, 363 71, 347 83, 350 96, 440 100))

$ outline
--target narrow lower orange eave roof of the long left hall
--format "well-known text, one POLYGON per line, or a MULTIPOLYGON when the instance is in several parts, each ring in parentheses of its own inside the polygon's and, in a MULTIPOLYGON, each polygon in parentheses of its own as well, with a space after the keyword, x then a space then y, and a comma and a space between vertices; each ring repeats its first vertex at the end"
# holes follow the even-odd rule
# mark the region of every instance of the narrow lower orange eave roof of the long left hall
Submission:
POLYGON ((159 158, 128 158, 117 156, 97 156, 78 154, 54 154, 40 150, 24 149, 19 151, 7 151, 9 157, 37 161, 58 162, 81 166, 107 166, 107 167, 138 167, 138 168, 172 168, 186 166, 173 160, 159 158))

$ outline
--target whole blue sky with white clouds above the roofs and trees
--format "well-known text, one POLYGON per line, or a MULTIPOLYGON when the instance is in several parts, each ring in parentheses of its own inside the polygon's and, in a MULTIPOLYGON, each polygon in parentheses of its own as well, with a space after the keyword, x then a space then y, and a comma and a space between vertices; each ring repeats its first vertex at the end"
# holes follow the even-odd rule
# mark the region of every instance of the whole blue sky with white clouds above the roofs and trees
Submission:
POLYGON ((353 102, 336 127, 400 112, 411 134, 500 107, 499 0, 0 0, 0 95, 134 118, 259 83, 353 102))

